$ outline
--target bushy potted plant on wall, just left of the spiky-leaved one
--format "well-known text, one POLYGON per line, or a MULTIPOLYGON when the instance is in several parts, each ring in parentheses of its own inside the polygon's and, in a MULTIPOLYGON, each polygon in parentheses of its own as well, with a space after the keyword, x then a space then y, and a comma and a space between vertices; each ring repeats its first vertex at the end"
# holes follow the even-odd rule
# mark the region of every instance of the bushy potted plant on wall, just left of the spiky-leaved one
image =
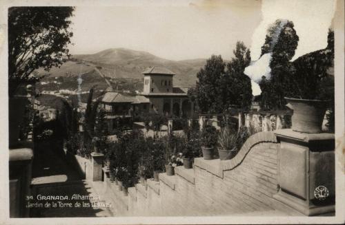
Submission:
POLYGON ((217 129, 206 125, 201 131, 201 149, 204 160, 213 160, 214 148, 217 144, 217 129))

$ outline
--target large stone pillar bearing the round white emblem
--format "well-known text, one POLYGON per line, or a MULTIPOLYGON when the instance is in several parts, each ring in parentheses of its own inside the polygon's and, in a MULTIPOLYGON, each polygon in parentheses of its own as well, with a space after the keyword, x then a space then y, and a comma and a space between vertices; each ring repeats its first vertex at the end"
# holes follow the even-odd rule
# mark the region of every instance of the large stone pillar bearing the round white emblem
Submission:
POLYGON ((275 132, 279 191, 273 197, 305 215, 335 211, 333 133, 275 132))

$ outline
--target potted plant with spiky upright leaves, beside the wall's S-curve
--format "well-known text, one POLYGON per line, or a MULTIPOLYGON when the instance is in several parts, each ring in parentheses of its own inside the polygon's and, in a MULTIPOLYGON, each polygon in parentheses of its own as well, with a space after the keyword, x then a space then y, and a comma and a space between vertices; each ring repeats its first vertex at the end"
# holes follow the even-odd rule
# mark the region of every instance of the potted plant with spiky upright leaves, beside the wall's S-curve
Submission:
POLYGON ((237 131, 226 126, 218 134, 218 153, 220 160, 230 160, 237 152, 237 131))

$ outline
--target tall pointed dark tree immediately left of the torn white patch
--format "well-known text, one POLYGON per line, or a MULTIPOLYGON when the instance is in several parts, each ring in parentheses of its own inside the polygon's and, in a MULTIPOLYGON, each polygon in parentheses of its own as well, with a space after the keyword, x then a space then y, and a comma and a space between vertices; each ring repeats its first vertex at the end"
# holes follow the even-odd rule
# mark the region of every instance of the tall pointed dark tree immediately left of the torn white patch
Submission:
POLYGON ((250 63, 250 50, 242 41, 237 41, 233 51, 235 57, 227 64, 227 71, 221 78, 223 105, 228 109, 232 105, 242 109, 250 109, 252 102, 252 86, 250 78, 244 74, 244 69, 250 63))

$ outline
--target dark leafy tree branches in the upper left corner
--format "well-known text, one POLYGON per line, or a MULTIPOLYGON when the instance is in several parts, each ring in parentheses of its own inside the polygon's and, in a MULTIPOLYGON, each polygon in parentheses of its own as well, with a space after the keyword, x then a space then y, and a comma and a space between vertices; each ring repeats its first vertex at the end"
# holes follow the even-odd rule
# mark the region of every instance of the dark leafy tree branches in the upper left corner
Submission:
POLYGON ((30 74, 48 71, 69 57, 72 7, 12 7, 8 10, 8 81, 12 96, 30 74))

